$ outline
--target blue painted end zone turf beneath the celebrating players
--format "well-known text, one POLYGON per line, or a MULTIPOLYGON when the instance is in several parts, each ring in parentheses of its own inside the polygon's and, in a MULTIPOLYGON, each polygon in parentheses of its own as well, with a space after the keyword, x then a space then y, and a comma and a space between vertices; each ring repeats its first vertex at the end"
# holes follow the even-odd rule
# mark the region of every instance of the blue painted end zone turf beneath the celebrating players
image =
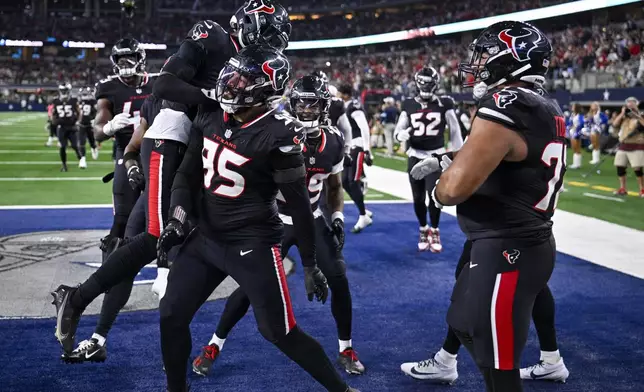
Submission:
MULTIPOLYGON (((442 217, 442 254, 418 254, 418 229, 411 206, 377 204, 370 208, 375 224, 359 235, 347 233, 345 248, 354 302, 353 341, 367 374, 346 378, 363 392, 484 390, 465 351, 459 356, 460 378, 453 387, 416 381, 399 370, 401 362, 426 359, 442 344, 454 268, 464 240, 455 219, 442 217)), ((347 221, 355 219, 354 208, 348 206, 347 221)), ((107 229, 111 220, 109 209, 5 210, 0 211, 0 233, 107 229)), ((337 337, 328 303, 306 301, 301 268, 296 268, 289 280, 298 324, 320 340, 335 359, 337 337)), ((560 349, 571 377, 565 385, 527 382, 525 390, 643 390, 644 282, 559 254, 550 283, 557 302, 560 349)), ((207 303, 195 317, 193 354, 210 339, 223 305, 224 301, 207 303)), ((89 337, 95 323, 96 317, 83 318, 79 338, 89 337)), ((61 363, 53 330, 53 319, 0 321, 0 390, 164 390, 157 312, 121 315, 108 339, 105 364, 61 363)), ((532 332, 523 362, 531 364, 538 358, 538 342, 532 332)), ((261 338, 251 315, 232 332, 211 377, 190 374, 189 379, 193 391, 322 390, 261 338)))

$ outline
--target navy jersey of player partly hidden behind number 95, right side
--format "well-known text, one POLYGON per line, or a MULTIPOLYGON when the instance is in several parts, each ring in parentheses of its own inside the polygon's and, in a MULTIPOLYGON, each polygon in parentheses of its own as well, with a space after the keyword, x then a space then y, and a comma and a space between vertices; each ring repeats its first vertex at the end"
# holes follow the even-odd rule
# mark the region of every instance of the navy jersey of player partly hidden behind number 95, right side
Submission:
MULTIPOLYGON (((320 197, 324 181, 331 174, 342 172, 344 167, 344 137, 335 127, 323 127, 319 141, 312 144, 307 139, 302 148, 306 166, 306 187, 311 199, 311 209, 316 211, 320 205, 320 197)), ((292 211, 281 194, 277 195, 279 212, 290 217, 292 211)))

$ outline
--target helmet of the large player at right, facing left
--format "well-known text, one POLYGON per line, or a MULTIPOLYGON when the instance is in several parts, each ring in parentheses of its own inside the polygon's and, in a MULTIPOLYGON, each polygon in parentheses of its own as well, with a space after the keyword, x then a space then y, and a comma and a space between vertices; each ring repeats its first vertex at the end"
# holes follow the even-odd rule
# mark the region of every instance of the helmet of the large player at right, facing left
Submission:
POLYGON ((483 30, 470 51, 470 61, 458 66, 461 84, 484 82, 490 89, 514 81, 544 84, 552 45, 530 23, 504 21, 483 30))

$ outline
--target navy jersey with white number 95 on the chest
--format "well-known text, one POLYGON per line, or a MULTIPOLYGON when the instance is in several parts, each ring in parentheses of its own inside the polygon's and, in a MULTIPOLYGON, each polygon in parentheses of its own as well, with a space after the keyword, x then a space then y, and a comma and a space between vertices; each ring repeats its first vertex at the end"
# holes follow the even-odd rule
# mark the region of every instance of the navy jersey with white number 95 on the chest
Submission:
POLYGON ((273 109, 242 125, 213 103, 200 108, 190 138, 190 156, 201 149, 203 161, 199 226, 222 241, 281 241, 275 164, 282 155, 301 156, 304 139, 289 118, 273 109))

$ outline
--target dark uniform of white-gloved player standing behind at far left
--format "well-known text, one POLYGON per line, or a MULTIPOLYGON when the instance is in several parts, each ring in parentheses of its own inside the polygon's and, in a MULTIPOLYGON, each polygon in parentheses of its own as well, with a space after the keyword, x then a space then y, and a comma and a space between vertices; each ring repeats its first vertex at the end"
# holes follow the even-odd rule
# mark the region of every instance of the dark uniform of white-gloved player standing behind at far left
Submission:
MULTIPOLYGON (((126 222, 134 203, 136 203, 140 192, 133 190, 127 179, 127 171, 123 165, 123 153, 125 147, 132 138, 134 127, 140 122, 141 106, 143 101, 152 94, 152 86, 156 75, 144 75, 139 86, 132 87, 121 81, 117 76, 110 76, 97 83, 96 100, 107 99, 112 106, 112 116, 120 113, 131 115, 131 125, 119 130, 114 134, 116 145, 116 164, 114 165, 114 182, 112 184, 115 221, 126 222)), ((117 237, 123 237, 125 233, 116 233, 117 237)))

